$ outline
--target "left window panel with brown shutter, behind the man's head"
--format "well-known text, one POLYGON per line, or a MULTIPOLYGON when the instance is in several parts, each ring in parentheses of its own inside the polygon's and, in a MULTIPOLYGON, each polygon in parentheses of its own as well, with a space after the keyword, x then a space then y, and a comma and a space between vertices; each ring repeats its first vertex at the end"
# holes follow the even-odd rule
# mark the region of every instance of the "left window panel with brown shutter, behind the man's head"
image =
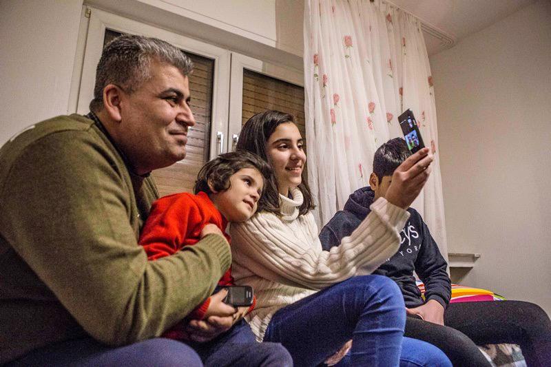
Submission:
POLYGON ((92 9, 76 106, 79 114, 88 112, 94 91, 96 65, 103 45, 121 33, 163 39, 183 50, 195 63, 194 72, 189 76, 189 90, 191 110, 197 123, 189 131, 186 158, 170 167, 153 171, 161 196, 192 191, 200 167, 216 156, 216 147, 209 142, 216 140, 217 131, 227 128, 230 53, 180 34, 92 9))

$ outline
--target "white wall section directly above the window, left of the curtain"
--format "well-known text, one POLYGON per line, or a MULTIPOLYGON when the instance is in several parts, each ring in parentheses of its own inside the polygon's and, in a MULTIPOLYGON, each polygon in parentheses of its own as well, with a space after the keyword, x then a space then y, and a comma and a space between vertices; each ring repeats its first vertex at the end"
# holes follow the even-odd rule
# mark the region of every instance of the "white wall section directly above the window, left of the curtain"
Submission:
POLYGON ((304 0, 87 0, 247 56, 302 70, 304 0))

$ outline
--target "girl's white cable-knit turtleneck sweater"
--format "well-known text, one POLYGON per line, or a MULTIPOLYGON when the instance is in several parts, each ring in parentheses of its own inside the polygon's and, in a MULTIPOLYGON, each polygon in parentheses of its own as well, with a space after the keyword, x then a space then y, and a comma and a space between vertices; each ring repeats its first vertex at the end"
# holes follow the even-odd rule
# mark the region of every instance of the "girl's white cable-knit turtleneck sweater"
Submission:
POLYGON ((291 188, 291 196, 293 200, 280 195, 281 217, 262 212, 230 227, 231 273, 236 284, 254 289, 257 303, 247 321, 259 342, 275 311, 349 277, 375 271, 398 250, 399 231, 409 217, 380 198, 340 246, 322 251, 312 213, 298 215, 302 193, 291 188))

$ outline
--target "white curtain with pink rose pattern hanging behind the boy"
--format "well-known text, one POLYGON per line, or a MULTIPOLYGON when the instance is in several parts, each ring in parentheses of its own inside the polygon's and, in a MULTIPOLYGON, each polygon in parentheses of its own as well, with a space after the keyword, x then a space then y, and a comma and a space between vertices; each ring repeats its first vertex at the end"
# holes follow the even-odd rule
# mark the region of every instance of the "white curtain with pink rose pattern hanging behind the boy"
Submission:
MULTIPOLYGON (((308 178, 320 228, 368 185, 377 147, 402 136, 412 109, 426 146, 438 146, 433 81, 418 19, 380 0, 305 0, 308 178)), ((413 207, 447 258, 438 154, 413 207)))

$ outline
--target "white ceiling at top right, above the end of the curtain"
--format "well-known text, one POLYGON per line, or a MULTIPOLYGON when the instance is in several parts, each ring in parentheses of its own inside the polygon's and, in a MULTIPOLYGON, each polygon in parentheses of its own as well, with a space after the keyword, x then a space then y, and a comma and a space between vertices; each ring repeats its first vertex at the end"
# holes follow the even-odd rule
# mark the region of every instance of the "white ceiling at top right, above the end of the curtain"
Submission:
MULTIPOLYGON (((457 43, 469 34, 488 28, 521 10, 534 0, 390 0, 388 2, 414 14, 424 23, 444 31, 457 43)), ((449 47, 427 33, 424 35, 429 56, 449 47)))

